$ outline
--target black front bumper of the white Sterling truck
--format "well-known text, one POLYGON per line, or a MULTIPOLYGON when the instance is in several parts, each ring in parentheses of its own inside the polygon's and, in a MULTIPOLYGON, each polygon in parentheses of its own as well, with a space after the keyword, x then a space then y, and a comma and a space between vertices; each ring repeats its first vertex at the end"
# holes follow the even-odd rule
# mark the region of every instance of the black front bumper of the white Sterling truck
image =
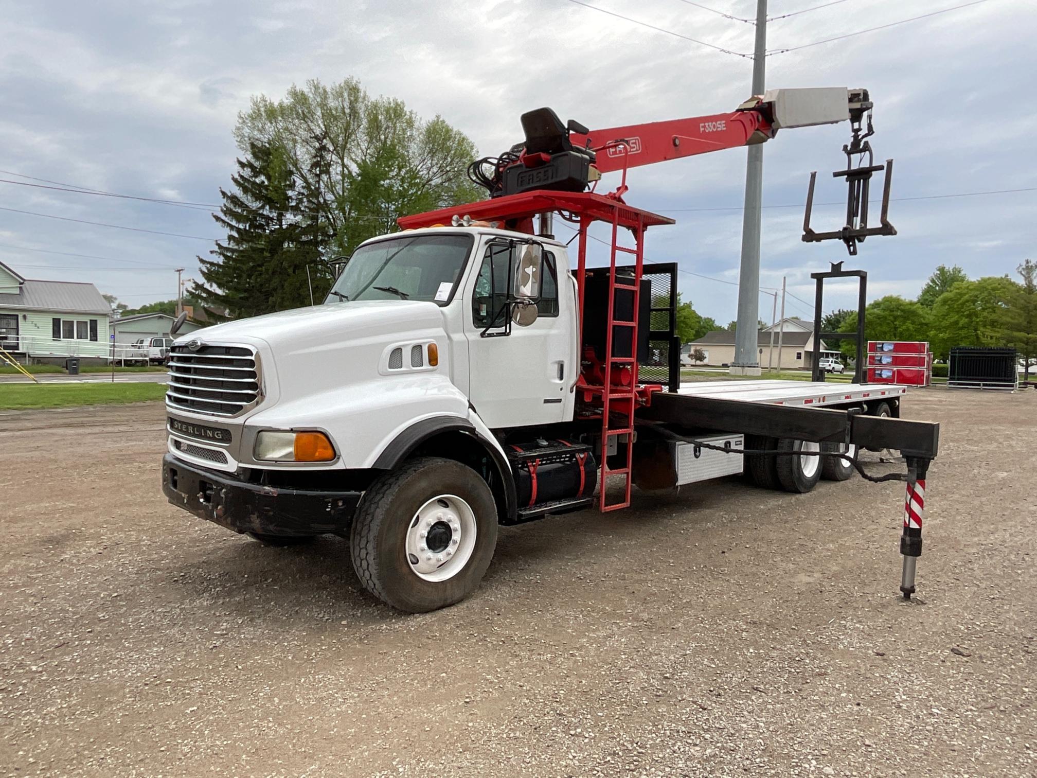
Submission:
POLYGON ((235 532, 268 535, 340 534, 362 492, 308 492, 249 483, 229 473, 188 465, 167 453, 162 491, 170 503, 235 532))

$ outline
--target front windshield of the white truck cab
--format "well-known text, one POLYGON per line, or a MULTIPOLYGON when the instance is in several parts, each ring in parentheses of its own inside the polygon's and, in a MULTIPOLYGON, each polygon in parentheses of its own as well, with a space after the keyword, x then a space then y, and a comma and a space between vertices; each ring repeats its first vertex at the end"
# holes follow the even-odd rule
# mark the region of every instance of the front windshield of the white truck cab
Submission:
POLYGON ((361 246, 325 302, 419 300, 446 305, 474 242, 473 235, 421 234, 361 246))

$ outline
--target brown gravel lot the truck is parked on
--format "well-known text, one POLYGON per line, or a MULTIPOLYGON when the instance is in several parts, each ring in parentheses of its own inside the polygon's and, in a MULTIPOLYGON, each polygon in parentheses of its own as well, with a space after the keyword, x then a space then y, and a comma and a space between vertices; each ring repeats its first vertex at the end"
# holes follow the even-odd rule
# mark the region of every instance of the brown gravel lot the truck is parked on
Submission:
POLYGON ((338 538, 168 505, 159 404, 0 414, 0 775, 1037 774, 1037 392, 901 484, 735 479, 503 529, 475 596, 364 593, 338 538))

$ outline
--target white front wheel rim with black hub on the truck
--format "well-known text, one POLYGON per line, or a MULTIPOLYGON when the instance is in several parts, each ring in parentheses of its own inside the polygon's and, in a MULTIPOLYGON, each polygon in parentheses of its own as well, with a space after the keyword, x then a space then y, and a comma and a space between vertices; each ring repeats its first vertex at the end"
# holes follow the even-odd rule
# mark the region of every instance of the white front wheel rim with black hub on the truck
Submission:
POLYGON ((472 558, 476 534, 475 511, 465 500, 456 495, 433 497, 407 528, 408 565, 424 581, 447 581, 472 558))

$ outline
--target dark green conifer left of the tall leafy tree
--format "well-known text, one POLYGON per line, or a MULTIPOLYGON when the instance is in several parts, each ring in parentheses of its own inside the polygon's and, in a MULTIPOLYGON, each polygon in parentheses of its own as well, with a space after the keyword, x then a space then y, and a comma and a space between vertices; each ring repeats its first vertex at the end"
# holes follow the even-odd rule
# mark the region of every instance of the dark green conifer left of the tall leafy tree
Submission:
POLYGON ((331 233, 316 209, 323 179, 314 169, 300 182, 280 149, 251 144, 237 160, 233 189, 220 190, 223 204, 213 218, 227 238, 209 252, 215 258, 198 257, 205 282, 193 284, 195 297, 237 318, 309 305, 310 283, 314 299, 327 295, 331 273, 321 254, 331 233))

